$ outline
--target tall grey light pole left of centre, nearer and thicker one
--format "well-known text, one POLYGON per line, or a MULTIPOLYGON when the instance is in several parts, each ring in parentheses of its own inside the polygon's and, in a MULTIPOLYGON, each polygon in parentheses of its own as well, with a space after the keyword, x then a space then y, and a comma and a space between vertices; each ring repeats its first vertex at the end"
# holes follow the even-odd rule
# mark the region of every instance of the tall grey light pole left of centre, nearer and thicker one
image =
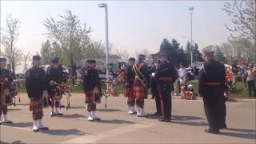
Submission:
MULTIPOLYGON (((107 4, 99 3, 98 7, 105 8, 105 22, 106 22, 106 82, 109 81, 109 34, 108 34, 108 19, 107 19, 107 4)), ((106 85, 108 88, 108 85, 106 85)))

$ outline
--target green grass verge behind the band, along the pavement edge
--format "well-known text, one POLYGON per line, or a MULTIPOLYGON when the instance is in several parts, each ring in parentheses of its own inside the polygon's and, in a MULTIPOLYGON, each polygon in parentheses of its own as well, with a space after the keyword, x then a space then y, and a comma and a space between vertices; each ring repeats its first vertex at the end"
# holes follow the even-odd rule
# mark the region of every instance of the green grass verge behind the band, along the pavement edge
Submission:
MULTIPOLYGON (((70 86, 71 82, 66 82, 66 86, 70 86)), ((198 97, 198 81, 190 81, 187 82, 187 85, 192 84, 193 88, 194 88, 194 95, 196 97, 198 97)), ((250 98, 249 97, 249 93, 248 90, 243 90, 243 83, 242 82, 238 82, 236 85, 237 90, 234 90, 233 93, 230 94, 230 98, 250 98)), ((102 85, 102 90, 105 90, 106 86, 102 85)), ((124 91, 124 86, 123 84, 119 84, 118 86, 116 86, 116 90, 118 90, 118 94, 122 94, 124 91)), ((22 81, 20 82, 20 92, 21 93, 26 93, 26 89, 25 89, 25 82, 22 81)), ((78 85, 78 86, 73 86, 71 89, 72 93, 82 93, 82 85, 78 85)), ((148 94, 151 94, 151 90, 148 90, 148 94)), ((254 98, 254 97, 252 97, 254 98)))

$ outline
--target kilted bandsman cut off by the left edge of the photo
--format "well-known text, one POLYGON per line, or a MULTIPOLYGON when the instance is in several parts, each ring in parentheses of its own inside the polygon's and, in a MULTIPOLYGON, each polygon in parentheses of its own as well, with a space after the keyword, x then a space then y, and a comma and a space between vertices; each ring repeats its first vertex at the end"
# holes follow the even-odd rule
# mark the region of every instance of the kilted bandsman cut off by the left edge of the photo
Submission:
POLYGON ((12 104, 11 102, 11 95, 9 94, 9 98, 3 98, 5 96, 4 90, 10 90, 11 82, 13 82, 13 78, 11 75, 10 70, 6 69, 6 58, 1 57, 0 58, 0 81, 1 81, 1 87, 0 87, 0 124, 2 123, 12 123, 7 118, 7 105, 12 104), (2 102, 2 101, 9 101, 8 103, 2 102))

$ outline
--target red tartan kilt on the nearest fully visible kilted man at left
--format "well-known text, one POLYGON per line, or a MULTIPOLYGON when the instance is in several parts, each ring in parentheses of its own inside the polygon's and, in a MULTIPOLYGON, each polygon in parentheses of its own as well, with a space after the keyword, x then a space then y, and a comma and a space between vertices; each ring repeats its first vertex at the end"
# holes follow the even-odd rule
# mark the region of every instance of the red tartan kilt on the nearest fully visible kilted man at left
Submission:
POLYGON ((42 119, 42 98, 30 99, 30 111, 34 120, 42 119))

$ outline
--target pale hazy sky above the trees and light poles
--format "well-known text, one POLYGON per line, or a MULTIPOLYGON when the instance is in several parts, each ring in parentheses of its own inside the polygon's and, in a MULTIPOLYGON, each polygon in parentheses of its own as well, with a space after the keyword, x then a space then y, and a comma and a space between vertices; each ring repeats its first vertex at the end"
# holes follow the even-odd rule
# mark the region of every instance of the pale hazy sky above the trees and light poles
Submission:
MULTIPOLYGON (((16 46, 25 53, 40 52, 46 42, 46 18, 59 18, 66 9, 78 15, 93 32, 94 40, 105 42, 104 1, 1 1, 1 27, 12 14, 21 22, 16 46)), ((158 52, 163 38, 175 38, 185 47, 190 41, 190 12, 193 6, 193 40, 200 49, 226 42, 230 19, 222 10, 225 1, 105 1, 108 4, 109 42, 128 54, 147 49, 158 52)))

